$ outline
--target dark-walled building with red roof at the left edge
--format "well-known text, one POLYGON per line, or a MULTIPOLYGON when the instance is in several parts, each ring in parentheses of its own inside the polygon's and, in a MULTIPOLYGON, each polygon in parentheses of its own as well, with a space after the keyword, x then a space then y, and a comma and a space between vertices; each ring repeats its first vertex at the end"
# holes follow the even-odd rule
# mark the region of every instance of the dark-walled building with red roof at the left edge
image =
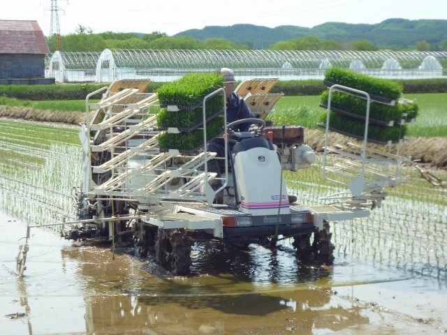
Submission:
POLYGON ((45 54, 49 53, 37 21, 0 20, 0 84, 46 83, 45 54))

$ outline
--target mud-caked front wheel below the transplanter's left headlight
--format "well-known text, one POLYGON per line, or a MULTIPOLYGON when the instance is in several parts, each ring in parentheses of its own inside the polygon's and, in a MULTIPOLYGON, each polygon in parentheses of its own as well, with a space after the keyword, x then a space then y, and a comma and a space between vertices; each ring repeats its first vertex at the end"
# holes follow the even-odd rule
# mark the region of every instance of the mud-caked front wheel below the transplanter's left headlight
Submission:
POLYGON ((159 228, 156 262, 173 274, 186 275, 191 272, 191 239, 185 230, 159 228))

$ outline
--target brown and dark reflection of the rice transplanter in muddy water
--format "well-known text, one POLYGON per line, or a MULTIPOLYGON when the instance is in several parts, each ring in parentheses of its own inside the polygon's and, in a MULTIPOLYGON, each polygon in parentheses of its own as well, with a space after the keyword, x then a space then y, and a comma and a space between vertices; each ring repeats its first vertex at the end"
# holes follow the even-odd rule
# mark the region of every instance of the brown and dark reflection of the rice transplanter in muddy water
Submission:
POLYGON ((135 329, 142 334, 237 334, 244 328, 255 329, 252 334, 292 329, 314 334, 369 322, 359 315, 360 307, 346 304, 326 286, 329 269, 296 258, 284 265, 280 258, 291 256, 285 247, 236 251, 200 245, 195 253, 204 250, 207 254, 193 261, 200 274, 176 277, 147 260, 127 255, 112 260, 107 248, 63 248, 64 263, 77 267, 81 288, 89 292, 87 334, 134 334, 135 329))

